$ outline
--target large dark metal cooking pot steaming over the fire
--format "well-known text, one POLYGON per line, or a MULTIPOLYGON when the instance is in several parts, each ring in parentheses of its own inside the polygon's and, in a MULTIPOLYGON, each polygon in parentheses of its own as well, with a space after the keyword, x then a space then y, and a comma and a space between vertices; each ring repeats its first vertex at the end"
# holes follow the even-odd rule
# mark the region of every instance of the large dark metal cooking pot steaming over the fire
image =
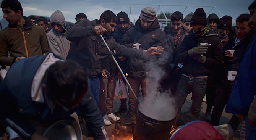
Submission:
POLYGON ((168 140, 174 121, 152 119, 138 109, 133 140, 168 140))

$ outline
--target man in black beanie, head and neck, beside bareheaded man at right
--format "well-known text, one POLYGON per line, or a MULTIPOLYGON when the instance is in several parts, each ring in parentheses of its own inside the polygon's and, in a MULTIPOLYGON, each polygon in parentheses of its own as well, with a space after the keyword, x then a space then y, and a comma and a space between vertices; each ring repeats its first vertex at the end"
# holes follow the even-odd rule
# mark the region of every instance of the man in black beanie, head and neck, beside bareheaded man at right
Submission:
POLYGON ((222 47, 225 46, 225 44, 229 40, 228 33, 231 31, 232 27, 232 17, 231 16, 223 16, 219 20, 219 24, 217 25, 217 34, 219 35, 220 42, 222 47))

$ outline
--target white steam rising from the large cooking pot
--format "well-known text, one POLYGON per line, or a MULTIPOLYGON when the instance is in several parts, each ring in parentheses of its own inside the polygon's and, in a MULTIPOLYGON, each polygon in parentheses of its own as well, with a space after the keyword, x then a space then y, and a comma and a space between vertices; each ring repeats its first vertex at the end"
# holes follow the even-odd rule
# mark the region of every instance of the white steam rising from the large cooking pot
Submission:
MULTIPOLYGON (((168 51, 167 51, 168 52, 168 51)), ((175 100, 170 97, 171 91, 160 92, 160 82, 166 76, 165 68, 170 64, 170 54, 163 52, 162 55, 151 57, 146 65, 149 77, 149 90, 143 100, 140 100, 139 110, 144 115, 161 121, 172 120, 177 111, 175 100)))

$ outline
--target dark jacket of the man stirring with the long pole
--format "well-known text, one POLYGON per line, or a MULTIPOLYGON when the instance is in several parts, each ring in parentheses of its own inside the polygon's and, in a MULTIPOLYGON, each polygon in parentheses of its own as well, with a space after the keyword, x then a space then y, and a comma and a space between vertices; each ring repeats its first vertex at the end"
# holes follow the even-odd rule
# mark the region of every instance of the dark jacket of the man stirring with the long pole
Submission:
MULTIPOLYGON (((81 64, 90 79, 96 78, 102 72, 102 64, 110 54, 100 35, 95 34, 94 26, 97 24, 99 24, 97 19, 93 21, 84 19, 66 31, 66 39, 72 42, 66 59, 81 64)), ((122 46, 111 36, 104 36, 104 40, 110 50, 115 49, 119 56, 141 57, 143 55, 143 50, 122 46)))

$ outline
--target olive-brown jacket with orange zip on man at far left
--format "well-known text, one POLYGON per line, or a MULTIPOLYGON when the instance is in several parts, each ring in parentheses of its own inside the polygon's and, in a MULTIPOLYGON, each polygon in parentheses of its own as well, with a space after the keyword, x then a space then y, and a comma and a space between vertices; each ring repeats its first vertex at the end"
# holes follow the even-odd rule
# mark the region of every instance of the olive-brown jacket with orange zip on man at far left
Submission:
POLYGON ((49 51, 44 29, 34 25, 29 18, 23 18, 25 23, 22 29, 9 24, 0 31, 0 63, 3 65, 11 66, 16 57, 42 55, 49 51))

